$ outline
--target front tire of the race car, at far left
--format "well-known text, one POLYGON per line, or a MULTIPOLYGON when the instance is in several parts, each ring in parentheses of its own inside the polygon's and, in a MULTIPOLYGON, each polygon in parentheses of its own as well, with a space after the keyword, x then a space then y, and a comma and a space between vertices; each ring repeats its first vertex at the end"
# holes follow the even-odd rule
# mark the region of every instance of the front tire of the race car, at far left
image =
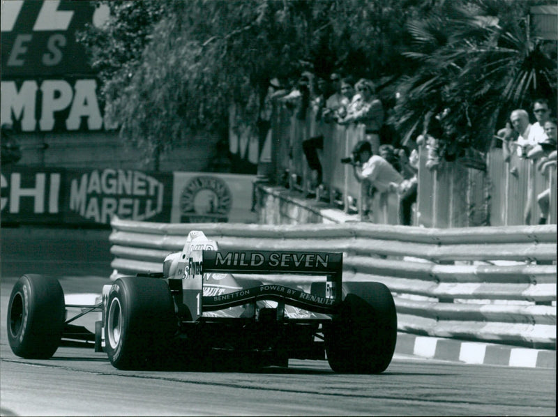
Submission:
POLYGON ((66 310, 58 280, 23 275, 8 303, 8 342, 17 356, 47 359, 60 345, 66 310))

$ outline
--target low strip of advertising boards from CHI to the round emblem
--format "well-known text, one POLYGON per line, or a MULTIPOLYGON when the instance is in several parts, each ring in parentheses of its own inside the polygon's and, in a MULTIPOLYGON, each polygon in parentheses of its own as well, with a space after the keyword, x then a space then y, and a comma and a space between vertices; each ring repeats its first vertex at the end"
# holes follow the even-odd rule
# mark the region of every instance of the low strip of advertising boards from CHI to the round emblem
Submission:
POLYGON ((257 222, 255 176, 134 169, 2 167, 3 225, 108 227, 149 222, 257 222))

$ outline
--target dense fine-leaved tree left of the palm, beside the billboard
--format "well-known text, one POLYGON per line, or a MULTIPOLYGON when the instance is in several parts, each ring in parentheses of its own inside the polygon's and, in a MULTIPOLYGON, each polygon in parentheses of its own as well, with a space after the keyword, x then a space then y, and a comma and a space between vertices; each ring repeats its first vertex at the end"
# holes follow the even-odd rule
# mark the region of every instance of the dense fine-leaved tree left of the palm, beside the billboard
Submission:
MULTIPOLYGON (((430 0, 428 0, 430 1, 430 0)), ((416 0, 106 1, 80 40, 100 70, 107 118, 146 155, 226 129, 229 104, 254 121, 272 77, 303 70, 391 78, 416 0)))

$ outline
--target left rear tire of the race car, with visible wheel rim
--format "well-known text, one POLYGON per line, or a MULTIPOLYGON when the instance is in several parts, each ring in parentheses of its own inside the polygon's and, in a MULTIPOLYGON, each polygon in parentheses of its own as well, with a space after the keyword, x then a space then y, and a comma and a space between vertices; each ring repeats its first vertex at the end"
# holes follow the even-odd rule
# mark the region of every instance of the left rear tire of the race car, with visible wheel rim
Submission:
POLYGON ((105 351, 121 370, 156 367, 176 331, 174 303, 164 280, 123 277, 110 289, 105 314, 105 351))

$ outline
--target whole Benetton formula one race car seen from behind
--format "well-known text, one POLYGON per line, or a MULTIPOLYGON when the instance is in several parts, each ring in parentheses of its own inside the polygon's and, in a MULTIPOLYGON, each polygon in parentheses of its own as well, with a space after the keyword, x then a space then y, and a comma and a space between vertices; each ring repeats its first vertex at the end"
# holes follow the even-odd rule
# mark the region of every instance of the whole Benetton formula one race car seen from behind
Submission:
POLYGON ((342 283, 342 253, 222 251, 197 231, 166 257, 163 273, 118 278, 98 301, 65 304, 58 280, 23 275, 8 305, 10 347, 23 358, 50 358, 61 344, 85 344, 122 370, 169 358, 189 367, 232 358, 243 370, 327 358, 335 372, 379 373, 397 337, 389 289, 342 283), (267 274, 279 279, 266 282, 267 274), (305 275, 310 291, 287 275, 305 275), (81 312, 67 319, 70 308, 81 312), (72 324, 95 311, 94 333, 72 324))

